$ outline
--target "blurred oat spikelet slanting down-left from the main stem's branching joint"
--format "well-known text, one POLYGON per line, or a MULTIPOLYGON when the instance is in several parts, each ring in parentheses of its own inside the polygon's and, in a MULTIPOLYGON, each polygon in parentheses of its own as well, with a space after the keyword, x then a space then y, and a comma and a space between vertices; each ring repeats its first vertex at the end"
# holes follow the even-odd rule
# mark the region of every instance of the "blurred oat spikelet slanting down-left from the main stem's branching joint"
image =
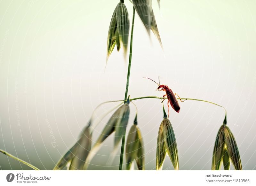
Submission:
MULTIPOLYGON (((114 131, 116 131, 115 138, 114 138, 114 148, 117 147, 118 143, 122 139, 122 136, 125 133, 126 126, 128 124, 129 114, 130 114, 130 100, 129 97, 126 103, 120 106, 116 112, 111 116, 108 120, 106 126, 104 127, 103 131, 101 132, 100 136, 96 140, 95 144, 93 145, 89 155, 87 156, 84 164, 84 170, 87 169, 89 166, 90 161, 94 157, 95 153, 100 149, 101 143, 110 136, 114 131)), ((114 149, 115 150, 115 149, 114 149)))

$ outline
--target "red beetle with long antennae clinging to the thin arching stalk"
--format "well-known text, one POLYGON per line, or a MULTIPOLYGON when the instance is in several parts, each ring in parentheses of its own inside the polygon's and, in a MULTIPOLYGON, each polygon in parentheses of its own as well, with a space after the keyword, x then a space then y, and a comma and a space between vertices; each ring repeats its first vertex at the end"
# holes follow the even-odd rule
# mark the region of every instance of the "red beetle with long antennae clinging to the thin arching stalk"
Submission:
MULTIPOLYGON (((146 78, 146 77, 145 77, 146 78)), ((150 79, 150 78, 147 78, 147 79, 150 79)), ((151 81, 154 81, 152 79, 150 79, 151 81)), ((154 81, 157 85, 158 85, 158 88, 157 90, 161 91, 165 91, 165 94, 163 96, 163 98, 165 96, 167 96, 167 99, 168 99, 168 103, 167 103, 167 106, 168 106, 168 118, 169 118, 169 103, 171 105, 171 107, 173 108, 173 110, 175 110, 176 112, 180 112, 180 105, 179 105, 179 102, 178 102, 178 99, 175 97, 176 95, 179 97, 178 94, 174 94, 172 89, 170 89, 167 85, 160 85, 160 81, 159 81, 159 84, 154 81)), ((180 99, 180 97, 179 97, 180 99)), ((186 101, 187 99, 185 99, 184 101, 186 101)), ((180 99, 181 102, 184 102, 180 99)), ((162 101, 162 103, 164 102, 164 100, 162 101)))

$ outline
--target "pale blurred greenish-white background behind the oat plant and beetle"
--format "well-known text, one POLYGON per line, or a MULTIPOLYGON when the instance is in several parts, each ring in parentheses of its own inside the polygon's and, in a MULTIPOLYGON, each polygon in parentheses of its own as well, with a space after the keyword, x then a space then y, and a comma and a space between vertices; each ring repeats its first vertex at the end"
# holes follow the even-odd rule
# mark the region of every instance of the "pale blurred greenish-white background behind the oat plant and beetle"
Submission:
MULTIPOLYGON (((0 2, 1 149, 51 170, 76 142, 97 105, 124 99, 128 56, 124 60, 123 51, 115 48, 105 70, 108 27, 118 2, 0 2)), ((132 4, 124 2, 131 21, 132 4)), ((224 106, 243 169, 256 170, 256 2, 161 0, 160 7, 153 0, 164 50, 135 15, 128 94, 162 97, 164 92, 155 91, 154 82, 142 78, 157 81, 160 76, 161 84, 180 97, 224 106)), ((157 99, 134 103, 145 145, 145 168, 155 170, 162 105, 157 99)), ((167 109, 167 101, 164 104, 167 109)), ((103 105, 96 112, 96 123, 114 106, 103 105)), ((180 106, 180 113, 170 110, 180 170, 210 170, 225 112, 190 100, 180 106)), ((134 114, 131 105, 127 130, 134 114)), ((94 141, 109 117, 95 128, 94 141)), ((114 162, 107 163, 113 140, 110 136, 103 143, 90 170, 118 170, 120 150, 114 162)), ((18 169, 30 170, 0 154, 0 170, 18 169)), ((168 157, 163 170, 173 170, 168 157)))

